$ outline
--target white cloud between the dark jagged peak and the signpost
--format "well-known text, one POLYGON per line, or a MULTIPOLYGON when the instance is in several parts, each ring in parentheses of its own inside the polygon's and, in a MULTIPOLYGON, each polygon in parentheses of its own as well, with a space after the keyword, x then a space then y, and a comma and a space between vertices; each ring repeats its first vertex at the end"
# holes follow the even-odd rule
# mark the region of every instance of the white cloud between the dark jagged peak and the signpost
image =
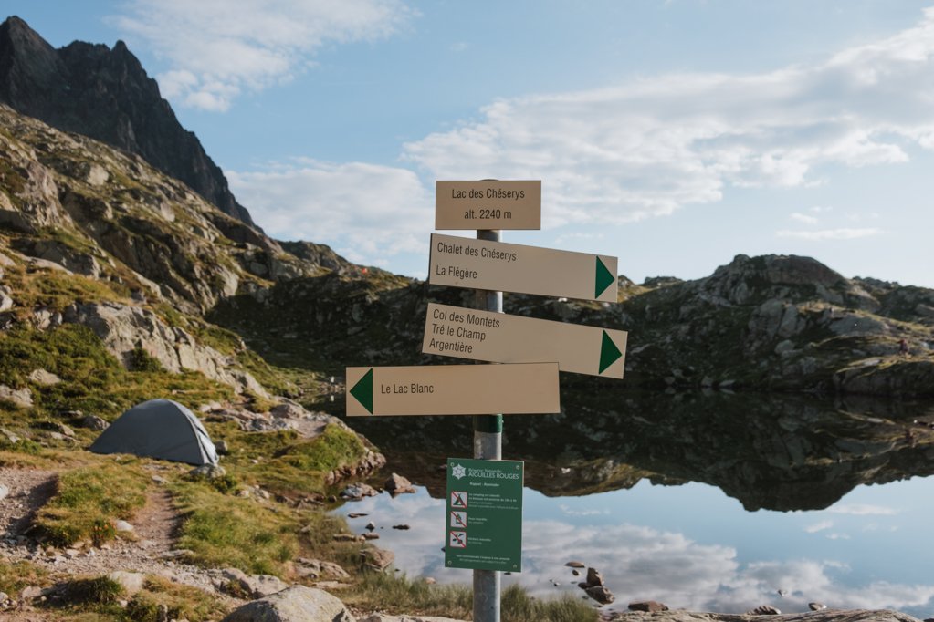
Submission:
POLYGON ((327 242, 354 262, 380 265, 387 256, 423 252, 417 232, 433 227, 429 192, 403 169, 303 159, 227 176, 270 235, 327 242))

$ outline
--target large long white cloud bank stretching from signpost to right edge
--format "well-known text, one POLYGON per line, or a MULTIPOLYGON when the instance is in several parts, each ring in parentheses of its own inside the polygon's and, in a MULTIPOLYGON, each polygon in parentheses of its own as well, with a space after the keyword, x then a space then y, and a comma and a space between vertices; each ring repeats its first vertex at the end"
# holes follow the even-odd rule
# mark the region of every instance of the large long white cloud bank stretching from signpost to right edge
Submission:
POLYGON ((932 65, 928 9, 916 27, 814 66, 503 99, 404 145, 404 158, 438 179, 542 179, 548 227, 621 224, 720 200, 730 186, 811 186, 828 165, 905 162, 934 146, 932 65))

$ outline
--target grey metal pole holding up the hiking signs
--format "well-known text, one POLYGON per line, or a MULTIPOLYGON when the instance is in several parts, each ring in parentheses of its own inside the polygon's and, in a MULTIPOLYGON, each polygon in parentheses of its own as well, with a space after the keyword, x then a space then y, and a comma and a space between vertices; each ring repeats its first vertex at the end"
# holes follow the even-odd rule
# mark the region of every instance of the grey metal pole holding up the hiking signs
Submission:
MULTIPOLYGON (((477 229, 477 240, 501 242, 498 230, 477 229)), ((477 309, 502 313, 502 292, 475 290, 477 309)), ((474 415, 474 458, 502 460, 502 415, 474 415)), ((474 622, 500 622, 500 573, 474 570, 474 622)))

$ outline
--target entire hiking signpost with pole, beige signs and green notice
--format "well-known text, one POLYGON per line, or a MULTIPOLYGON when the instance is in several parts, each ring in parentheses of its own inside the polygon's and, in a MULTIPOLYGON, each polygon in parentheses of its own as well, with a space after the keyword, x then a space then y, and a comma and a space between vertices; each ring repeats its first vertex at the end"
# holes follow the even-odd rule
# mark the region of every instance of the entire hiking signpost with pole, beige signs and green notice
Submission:
POLYGON ((627 339, 506 315, 502 290, 616 302, 616 257, 503 243, 542 228, 540 181, 439 181, 434 227, 476 229, 432 235, 429 282, 473 288, 479 309, 430 303, 421 351, 502 365, 347 367, 347 415, 474 415, 474 459, 448 459, 445 559, 474 569, 474 622, 499 622, 500 571, 522 567, 524 470, 502 461, 502 413, 559 412, 558 371, 622 378, 627 339))

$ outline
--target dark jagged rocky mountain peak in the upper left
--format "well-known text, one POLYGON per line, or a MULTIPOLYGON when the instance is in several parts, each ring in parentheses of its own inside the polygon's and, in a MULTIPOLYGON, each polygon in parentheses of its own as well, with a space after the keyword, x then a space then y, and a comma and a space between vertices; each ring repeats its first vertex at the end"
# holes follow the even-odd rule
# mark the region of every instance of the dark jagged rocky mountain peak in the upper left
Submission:
POLYGON ((141 156, 216 205, 253 225, 227 179, 126 44, 76 41, 52 48, 17 17, 0 24, 0 103, 52 127, 141 156))

